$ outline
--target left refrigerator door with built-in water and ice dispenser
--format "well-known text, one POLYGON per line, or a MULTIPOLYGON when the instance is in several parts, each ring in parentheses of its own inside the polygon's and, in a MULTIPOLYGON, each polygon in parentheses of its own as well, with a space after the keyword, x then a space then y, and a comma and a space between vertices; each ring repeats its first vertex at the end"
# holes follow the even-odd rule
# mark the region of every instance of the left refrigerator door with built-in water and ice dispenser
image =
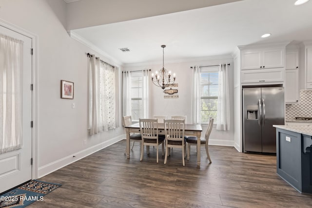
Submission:
POLYGON ((244 151, 262 151, 261 142, 261 120, 260 120, 260 109, 259 109, 259 99, 261 99, 261 88, 245 88, 243 89, 243 148, 244 151), (257 112, 251 112, 251 110, 256 110, 257 112), (253 116, 250 114, 248 116, 248 110, 250 113, 255 113, 253 116), (249 118, 248 118, 249 117, 249 118))

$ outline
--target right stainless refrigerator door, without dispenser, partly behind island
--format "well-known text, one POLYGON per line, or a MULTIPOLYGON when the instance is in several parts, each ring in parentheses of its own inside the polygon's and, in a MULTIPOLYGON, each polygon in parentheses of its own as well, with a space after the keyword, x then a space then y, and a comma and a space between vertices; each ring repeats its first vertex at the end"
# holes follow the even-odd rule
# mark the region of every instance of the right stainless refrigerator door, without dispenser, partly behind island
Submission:
POLYGON ((284 88, 261 88, 264 122, 262 125, 262 151, 276 153, 274 124, 284 125, 284 88))

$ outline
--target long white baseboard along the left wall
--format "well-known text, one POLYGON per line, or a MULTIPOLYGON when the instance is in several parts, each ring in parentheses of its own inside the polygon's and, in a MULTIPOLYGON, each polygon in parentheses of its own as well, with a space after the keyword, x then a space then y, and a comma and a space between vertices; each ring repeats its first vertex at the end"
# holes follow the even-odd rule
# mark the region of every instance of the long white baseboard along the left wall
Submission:
POLYGON ((123 135, 114 137, 110 140, 107 140, 105 142, 97 144, 93 147, 87 148, 87 149, 82 150, 82 151, 78 151, 74 154, 68 155, 67 157, 61 158, 61 159, 54 161, 52 163, 49 163, 45 166, 39 167, 38 178, 43 177, 43 176, 45 176, 51 172, 54 172, 56 170, 59 170, 59 169, 65 167, 71 163, 74 163, 74 162, 76 162, 76 161, 78 161, 78 160, 80 160, 80 159, 82 159, 82 158, 84 158, 90 154, 93 154, 96 151, 99 151, 103 148, 111 146, 112 144, 115 144, 116 142, 118 142, 122 139, 124 139, 123 135))

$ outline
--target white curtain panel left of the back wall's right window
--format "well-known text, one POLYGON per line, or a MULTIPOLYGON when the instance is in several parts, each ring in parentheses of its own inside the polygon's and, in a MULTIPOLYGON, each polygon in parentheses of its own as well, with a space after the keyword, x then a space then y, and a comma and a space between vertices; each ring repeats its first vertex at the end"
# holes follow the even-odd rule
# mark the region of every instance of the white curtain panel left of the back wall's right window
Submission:
POLYGON ((200 124, 200 68, 193 67, 192 78, 192 123, 200 124))

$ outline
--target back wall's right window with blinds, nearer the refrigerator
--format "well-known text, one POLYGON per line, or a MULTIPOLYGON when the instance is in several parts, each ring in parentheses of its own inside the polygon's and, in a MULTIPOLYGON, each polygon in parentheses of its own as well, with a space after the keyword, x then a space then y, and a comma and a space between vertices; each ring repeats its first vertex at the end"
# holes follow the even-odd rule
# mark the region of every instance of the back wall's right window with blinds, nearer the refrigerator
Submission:
POLYGON ((218 107, 218 68, 200 70, 200 119, 209 123, 209 118, 216 119, 218 107))

